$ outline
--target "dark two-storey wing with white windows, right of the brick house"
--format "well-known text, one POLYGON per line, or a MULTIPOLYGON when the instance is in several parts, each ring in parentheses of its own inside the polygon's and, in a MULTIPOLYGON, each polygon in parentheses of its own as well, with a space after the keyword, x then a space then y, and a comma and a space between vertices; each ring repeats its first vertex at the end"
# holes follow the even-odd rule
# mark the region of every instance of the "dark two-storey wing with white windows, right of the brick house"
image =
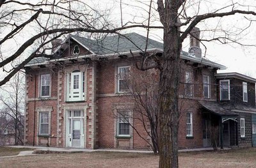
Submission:
POLYGON ((222 117, 224 146, 256 146, 256 79, 240 73, 216 74, 218 103, 230 112, 222 117))

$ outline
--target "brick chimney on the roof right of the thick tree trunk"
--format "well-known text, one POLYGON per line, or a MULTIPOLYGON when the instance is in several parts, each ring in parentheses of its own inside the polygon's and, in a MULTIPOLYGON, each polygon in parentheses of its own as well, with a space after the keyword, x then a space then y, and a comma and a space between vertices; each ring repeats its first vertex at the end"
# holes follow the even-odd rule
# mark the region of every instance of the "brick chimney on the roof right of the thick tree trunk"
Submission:
POLYGON ((189 47, 189 56, 202 58, 202 50, 200 49, 200 29, 198 27, 194 27, 191 30, 191 34, 189 37, 190 47, 189 47))

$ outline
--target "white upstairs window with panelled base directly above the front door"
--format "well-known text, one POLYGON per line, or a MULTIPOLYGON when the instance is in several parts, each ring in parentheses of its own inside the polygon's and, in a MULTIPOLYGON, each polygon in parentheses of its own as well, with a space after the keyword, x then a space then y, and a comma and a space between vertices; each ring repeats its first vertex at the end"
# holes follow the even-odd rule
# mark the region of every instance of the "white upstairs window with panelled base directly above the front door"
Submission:
POLYGON ((84 100, 84 72, 74 70, 67 73, 67 102, 84 100))

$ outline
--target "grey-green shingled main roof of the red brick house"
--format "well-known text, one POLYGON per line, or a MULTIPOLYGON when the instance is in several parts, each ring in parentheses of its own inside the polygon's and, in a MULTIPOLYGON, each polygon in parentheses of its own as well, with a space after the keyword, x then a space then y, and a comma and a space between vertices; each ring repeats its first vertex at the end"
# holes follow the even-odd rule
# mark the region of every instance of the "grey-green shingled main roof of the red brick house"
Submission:
MULTIPOLYGON (((148 42, 147 50, 159 49, 163 50, 163 43, 157 42, 156 40, 152 40, 145 36, 141 36, 138 33, 128 33, 123 35, 114 35, 114 36, 106 36, 99 40, 90 40, 88 38, 84 38, 81 36, 72 35, 71 38, 82 44, 86 49, 93 52, 93 54, 97 55, 113 55, 113 54, 122 54, 122 52, 129 52, 130 50, 134 51, 143 51, 145 50, 146 42, 148 42)), ((213 67, 217 67, 220 69, 225 69, 226 67, 220 65, 218 63, 214 63, 204 58, 197 58, 193 56, 189 56, 188 52, 182 51, 180 54, 182 59, 188 59, 190 61, 194 61, 196 63, 200 63, 202 65, 209 65, 213 67)), ((53 58, 54 59, 54 58, 53 58)), ((29 65, 35 63, 44 63, 47 59, 44 57, 38 57, 33 59, 28 63, 29 65)))

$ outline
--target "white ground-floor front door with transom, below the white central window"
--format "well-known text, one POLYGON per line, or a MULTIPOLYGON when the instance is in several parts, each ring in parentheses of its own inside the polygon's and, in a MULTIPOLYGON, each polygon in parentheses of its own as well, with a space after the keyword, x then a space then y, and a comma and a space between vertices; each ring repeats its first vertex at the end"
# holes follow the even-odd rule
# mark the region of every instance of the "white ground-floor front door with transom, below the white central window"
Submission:
POLYGON ((66 146, 72 148, 84 147, 83 111, 68 111, 66 126, 66 146))

